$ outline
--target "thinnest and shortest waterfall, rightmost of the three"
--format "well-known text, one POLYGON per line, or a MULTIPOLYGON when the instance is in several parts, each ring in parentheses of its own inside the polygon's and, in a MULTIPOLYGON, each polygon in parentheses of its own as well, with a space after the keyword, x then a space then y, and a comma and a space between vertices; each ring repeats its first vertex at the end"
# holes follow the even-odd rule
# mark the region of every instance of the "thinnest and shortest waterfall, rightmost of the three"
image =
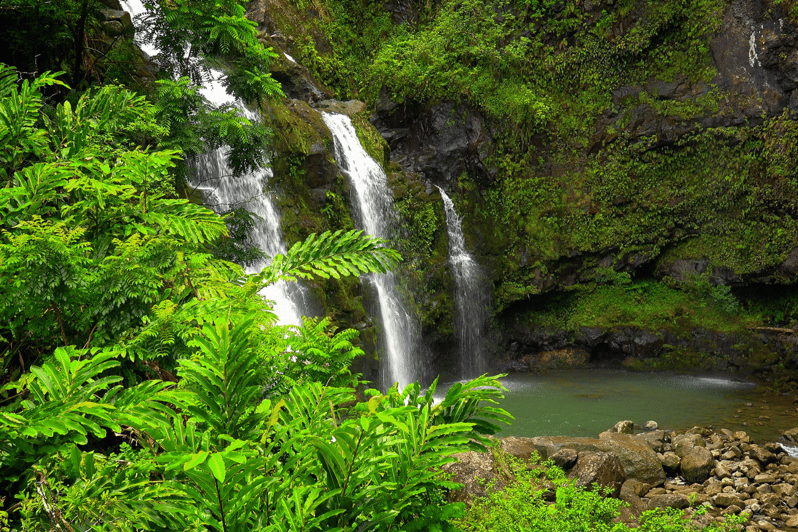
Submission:
POLYGON ((449 235, 449 264, 454 281, 454 325, 460 351, 460 378, 467 379, 485 372, 485 331, 490 297, 484 275, 465 245, 463 220, 454 209, 452 199, 438 187, 446 212, 449 235))

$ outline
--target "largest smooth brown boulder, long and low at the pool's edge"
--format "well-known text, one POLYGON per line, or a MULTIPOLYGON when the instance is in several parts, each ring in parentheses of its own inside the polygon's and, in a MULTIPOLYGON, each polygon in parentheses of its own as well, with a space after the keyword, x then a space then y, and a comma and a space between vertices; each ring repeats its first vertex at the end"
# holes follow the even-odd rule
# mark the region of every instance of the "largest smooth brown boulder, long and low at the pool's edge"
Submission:
POLYGON ((564 436, 540 436, 531 443, 541 457, 549 458, 563 448, 582 452, 605 452, 618 456, 627 478, 634 478, 652 486, 665 482, 656 453, 646 443, 641 443, 628 434, 606 433, 607 439, 569 438, 564 436))

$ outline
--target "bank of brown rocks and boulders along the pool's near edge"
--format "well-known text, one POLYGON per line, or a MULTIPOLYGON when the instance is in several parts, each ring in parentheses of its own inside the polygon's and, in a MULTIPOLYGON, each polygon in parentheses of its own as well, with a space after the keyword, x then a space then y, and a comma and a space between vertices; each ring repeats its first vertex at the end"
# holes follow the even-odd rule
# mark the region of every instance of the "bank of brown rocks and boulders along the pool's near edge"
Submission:
MULTIPOLYGON (((798 429, 785 439, 798 439, 798 429)), ((469 502, 509 481, 501 453, 527 463, 551 460, 578 485, 598 483, 629 504, 621 519, 634 523, 654 508, 682 509, 703 526, 725 516, 747 514, 746 531, 798 531, 798 458, 785 445, 757 444, 743 432, 694 427, 668 431, 649 422, 620 421, 598 438, 511 436, 494 453, 469 452, 445 468, 463 488, 452 494, 469 502), (487 481, 487 482, 486 482, 487 481), (491 481, 493 481, 491 483, 491 481)), ((553 499, 552 499, 553 500, 553 499)))

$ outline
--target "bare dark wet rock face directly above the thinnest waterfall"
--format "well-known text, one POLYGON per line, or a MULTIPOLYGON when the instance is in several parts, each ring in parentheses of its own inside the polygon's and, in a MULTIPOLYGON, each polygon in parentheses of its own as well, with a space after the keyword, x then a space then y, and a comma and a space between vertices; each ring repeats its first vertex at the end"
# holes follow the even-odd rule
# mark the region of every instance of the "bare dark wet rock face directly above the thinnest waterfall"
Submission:
POLYGON ((404 171, 446 185, 464 172, 489 178, 485 160, 490 132, 482 115, 465 104, 396 103, 383 88, 372 124, 388 141, 391 159, 404 171))

